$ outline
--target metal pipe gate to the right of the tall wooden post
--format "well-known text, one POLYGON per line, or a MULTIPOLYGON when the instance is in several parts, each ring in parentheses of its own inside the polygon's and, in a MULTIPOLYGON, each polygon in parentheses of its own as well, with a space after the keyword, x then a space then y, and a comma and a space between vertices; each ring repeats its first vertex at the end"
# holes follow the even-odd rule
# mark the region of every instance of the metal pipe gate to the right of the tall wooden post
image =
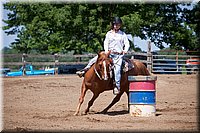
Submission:
POLYGON ((200 68, 198 55, 152 55, 152 58, 152 73, 195 73, 200 68), (197 61, 197 64, 188 63, 188 60, 197 61))

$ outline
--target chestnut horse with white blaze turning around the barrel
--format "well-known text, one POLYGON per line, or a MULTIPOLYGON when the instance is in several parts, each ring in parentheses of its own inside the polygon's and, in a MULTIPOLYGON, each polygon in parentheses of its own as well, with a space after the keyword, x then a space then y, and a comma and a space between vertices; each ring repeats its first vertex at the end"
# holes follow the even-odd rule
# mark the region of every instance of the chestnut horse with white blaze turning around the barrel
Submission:
MULTIPOLYGON (((99 52, 96 63, 94 63, 91 66, 91 68, 85 73, 84 79, 82 81, 79 103, 74 115, 79 114, 87 90, 90 89, 93 92, 93 96, 91 100, 88 102, 85 114, 89 112, 90 107, 93 105, 94 101, 96 100, 96 98, 99 96, 100 93, 114 89, 115 86, 114 86, 114 79, 112 76, 112 67, 111 67, 113 64, 111 58, 109 58, 109 54, 110 53, 106 54, 103 51, 99 52)), ((107 111, 120 100, 124 92, 126 92, 129 98, 129 82, 128 82, 129 75, 132 76, 150 75, 146 66, 142 62, 137 60, 131 60, 131 63, 133 64, 134 67, 131 70, 122 73, 120 93, 117 94, 112 100, 112 102, 100 113, 104 114, 107 113, 107 111)))

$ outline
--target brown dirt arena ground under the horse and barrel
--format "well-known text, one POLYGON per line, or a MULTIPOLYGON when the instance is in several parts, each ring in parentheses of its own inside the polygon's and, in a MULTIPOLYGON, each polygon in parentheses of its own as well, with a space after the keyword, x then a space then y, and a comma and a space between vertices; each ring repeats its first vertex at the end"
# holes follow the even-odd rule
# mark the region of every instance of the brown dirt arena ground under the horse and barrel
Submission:
MULTIPOLYGON (((2 78, 4 131, 198 131, 197 75, 156 75, 156 116, 133 117, 127 96, 102 93, 88 115, 74 116, 82 79, 76 75, 2 78)), ((92 97, 87 92, 81 112, 92 97)))

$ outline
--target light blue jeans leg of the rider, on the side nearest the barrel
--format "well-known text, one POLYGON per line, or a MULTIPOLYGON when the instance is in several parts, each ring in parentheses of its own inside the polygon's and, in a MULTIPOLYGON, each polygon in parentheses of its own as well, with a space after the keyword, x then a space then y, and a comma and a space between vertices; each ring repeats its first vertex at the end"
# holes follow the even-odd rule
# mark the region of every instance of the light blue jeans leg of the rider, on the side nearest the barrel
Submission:
POLYGON ((116 55, 116 54, 110 54, 110 58, 113 60, 114 64, 114 78, 116 82, 116 87, 120 89, 120 80, 121 80, 121 68, 122 68, 122 61, 123 61, 124 55, 116 55))

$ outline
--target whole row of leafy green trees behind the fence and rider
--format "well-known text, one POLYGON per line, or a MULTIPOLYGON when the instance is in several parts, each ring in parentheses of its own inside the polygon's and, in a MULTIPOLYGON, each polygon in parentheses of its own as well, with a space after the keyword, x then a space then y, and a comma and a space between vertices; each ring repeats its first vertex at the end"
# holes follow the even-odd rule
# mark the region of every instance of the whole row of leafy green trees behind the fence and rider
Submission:
MULTIPOLYGON (((114 16, 122 18, 122 30, 157 47, 199 50, 200 2, 191 3, 13 3, 9 10, 7 35, 17 34, 11 48, 20 53, 83 54, 103 50, 105 34, 114 16)), ((131 44, 131 49, 140 50, 131 44)))

